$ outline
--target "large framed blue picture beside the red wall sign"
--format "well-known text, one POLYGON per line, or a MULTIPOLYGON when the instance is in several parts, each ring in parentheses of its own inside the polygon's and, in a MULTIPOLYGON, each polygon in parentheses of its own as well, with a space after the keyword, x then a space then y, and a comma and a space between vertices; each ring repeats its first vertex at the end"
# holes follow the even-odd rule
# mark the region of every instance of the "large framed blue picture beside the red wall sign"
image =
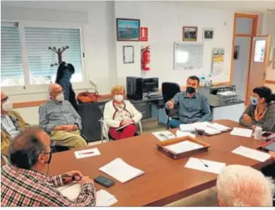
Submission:
POLYGON ((140 41, 140 20, 116 18, 117 41, 140 41))

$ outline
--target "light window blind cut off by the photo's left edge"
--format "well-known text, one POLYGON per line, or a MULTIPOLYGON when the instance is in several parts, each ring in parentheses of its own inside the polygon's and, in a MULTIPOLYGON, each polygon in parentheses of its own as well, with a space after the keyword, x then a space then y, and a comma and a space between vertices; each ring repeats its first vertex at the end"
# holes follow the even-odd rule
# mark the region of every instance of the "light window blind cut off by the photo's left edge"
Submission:
POLYGON ((18 26, 1 26, 1 86, 24 85, 18 26))

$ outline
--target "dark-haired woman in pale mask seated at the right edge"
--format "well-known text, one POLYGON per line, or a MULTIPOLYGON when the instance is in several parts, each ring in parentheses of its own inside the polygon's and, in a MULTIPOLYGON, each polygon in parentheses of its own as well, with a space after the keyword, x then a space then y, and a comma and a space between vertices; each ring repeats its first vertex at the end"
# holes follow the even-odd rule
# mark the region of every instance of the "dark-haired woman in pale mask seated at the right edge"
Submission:
POLYGON ((254 130, 256 125, 264 131, 275 132, 275 94, 269 87, 255 87, 251 104, 240 117, 240 124, 254 130))

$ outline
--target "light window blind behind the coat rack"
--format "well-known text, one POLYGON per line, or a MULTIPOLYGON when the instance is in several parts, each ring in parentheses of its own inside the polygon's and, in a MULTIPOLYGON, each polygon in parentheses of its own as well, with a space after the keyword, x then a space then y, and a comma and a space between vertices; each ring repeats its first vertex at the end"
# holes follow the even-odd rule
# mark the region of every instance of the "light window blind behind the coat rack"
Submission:
POLYGON ((54 82, 58 66, 58 56, 49 47, 56 49, 68 46, 62 54, 62 60, 75 67, 73 82, 82 81, 80 30, 68 28, 25 27, 25 44, 30 84, 54 82))

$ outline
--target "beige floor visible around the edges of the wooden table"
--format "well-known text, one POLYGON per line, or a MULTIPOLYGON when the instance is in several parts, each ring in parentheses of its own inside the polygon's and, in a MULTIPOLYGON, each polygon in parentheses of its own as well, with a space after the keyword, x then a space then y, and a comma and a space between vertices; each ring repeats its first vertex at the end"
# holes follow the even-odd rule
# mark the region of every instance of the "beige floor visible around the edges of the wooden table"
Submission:
MULTIPOLYGON (((161 130, 166 130, 164 125, 159 125, 157 128, 151 128, 144 130, 142 135, 148 132, 157 132, 161 130)), ((90 142, 89 146, 101 144, 102 141, 90 142)), ((197 194, 193 194, 190 197, 185 197, 184 199, 180 199, 176 202, 168 204, 166 206, 218 206, 216 199, 216 187, 212 187, 208 190, 204 190, 197 194)))

